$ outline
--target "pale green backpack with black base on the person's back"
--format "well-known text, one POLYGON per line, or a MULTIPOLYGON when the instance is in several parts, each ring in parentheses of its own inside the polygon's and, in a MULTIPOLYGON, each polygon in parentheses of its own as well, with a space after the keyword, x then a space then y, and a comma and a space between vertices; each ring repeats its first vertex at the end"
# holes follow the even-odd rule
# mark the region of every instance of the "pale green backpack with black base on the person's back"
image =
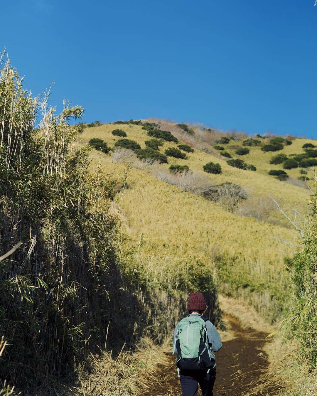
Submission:
POLYGON ((214 365, 209 354, 206 318, 187 316, 180 320, 173 353, 177 353, 176 366, 182 370, 208 369, 214 365))

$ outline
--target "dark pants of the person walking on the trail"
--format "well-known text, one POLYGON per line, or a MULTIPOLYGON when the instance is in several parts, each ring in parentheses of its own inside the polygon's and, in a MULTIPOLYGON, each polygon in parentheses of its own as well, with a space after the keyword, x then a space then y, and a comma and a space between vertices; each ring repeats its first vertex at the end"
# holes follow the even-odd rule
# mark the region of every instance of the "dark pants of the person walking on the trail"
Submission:
POLYGON ((196 396, 198 384, 203 396, 213 396, 214 380, 216 379, 216 369, 207 370, 181 370, 180 384, 182 385, 183 396, 196 396))

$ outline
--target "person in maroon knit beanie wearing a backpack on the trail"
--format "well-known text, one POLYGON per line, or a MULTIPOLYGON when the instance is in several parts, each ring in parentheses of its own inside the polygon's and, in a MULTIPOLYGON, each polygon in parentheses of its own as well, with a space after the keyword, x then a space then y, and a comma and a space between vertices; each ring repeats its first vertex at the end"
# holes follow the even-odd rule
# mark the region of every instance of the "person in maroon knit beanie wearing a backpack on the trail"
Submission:
POLYGON ((206 302, 202 293, 192 293, 187 309, 189 315, 180 320, 174 331, 173 353, 183 396, 196 396, 198 384, 203 396, 213 396, 216 360, 213 352, 221 347, 220 335, 214 325, 203 317, 206 302))

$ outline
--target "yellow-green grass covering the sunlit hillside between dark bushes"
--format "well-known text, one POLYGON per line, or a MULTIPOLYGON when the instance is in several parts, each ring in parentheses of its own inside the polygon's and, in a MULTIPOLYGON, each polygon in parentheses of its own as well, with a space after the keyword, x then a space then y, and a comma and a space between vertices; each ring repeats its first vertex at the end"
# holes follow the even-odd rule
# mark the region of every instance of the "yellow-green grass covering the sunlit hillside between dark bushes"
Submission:
MULTIPOLYGON (((145 148, 144 141, 150 139, 142 126, 124 124, 84 128, 78 139, 86 144, 91 138, 99 138, 108 147, 114 147, 120 139, 111 133, 116 128, 125 131, 127 139, 136 141, 141 148, 145 148)), ((164 129, 167 128, 169 124, 165 123, 164 129)), ((169 130, 177 135, 175 125, 170 124, 169 130)), ((282 165, 269 164, 276 152, 266 153, 260 147, 249 147, 250 153, 243 156, 243 160, 257 170, 243 170, 229 166, 213 144, 208 145, 209 152, 206 152, 206 146, 204 150, 195 148, 197 142, 191 136, 178 133, 180 137, 192 143, 194 152, 188 153, 188 159, 168 157, 168 164, 142 166, 135 158, 114 162, 110 154, 99 156, 97 150, 91 153, 93 163, 100 158, 108 172, 118 175, 123 174, 127 162, 134 163, 127 179, 129 188, 121 202, 121 218, 126 232, 138 244, 137 259, 144 273, 160 286, 175 289, 197 285, 203 288, 208 284, 206 278, 212 276, 217 279, 218 290, 243 294, 266 318, 274 320, 289 292, 290 277, 284 259, 294 252, 291 245, 298 244, 298 233, 289 227, 269 196, 282 206, 289 203, 301 208, 308 200, 309 190, 268 175, 270 169, 282 169, 282 165), (222 167, 221 174, 205 173, 214 185, 232 182, 247 192, 247 199, 233 213, 219 202, 184 192, 155 177, 154 169, 168 169, 171 164, 187 165, 192 171, 202 172, 203 165, 210 161, 222 167), (264 211, 262 221, 257 215, 241 215, 245 213, 241 210, 248 205, 256 211, 264 211)), ((296 139, 282 152, 300 154, 304 152, 304 143, 315 142, 296 139)), ((177 148, 178 144, 180 142, 164 141, 159 151, 164 153, 166 148, 177 148)), ((236 148, 230 148, 232 145, 242 147, 241 141, 222 146, 232 156, 239 157, 234 154, 236 148)), ((296 180, 299 169, 290 169, 287 173, 296 180)), ((312 172, 308 170, 308 176, 312 172)))

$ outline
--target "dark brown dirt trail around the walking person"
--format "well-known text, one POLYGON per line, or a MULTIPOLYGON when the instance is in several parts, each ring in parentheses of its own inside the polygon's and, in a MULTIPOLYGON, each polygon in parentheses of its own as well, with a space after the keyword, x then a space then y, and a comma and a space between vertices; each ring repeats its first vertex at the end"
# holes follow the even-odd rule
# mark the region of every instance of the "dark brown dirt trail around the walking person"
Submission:
MULTIPOLYGON (((252 329, 244 330, 236 319, 230 316, 225 318, 231 327, 233 339, 224 341, 222 348, 216 353, 214 396, 243 395, 263 383, 261 377, 268 368, 267 355, 263 351, 266 333, 252 329)), ((175 355, 167 353, 167 356, 169 364, 159 367, 151 390, 142 393, 142 396, 181 395, 175 355)), ((279 390, 279 386, 270 385, 261 395, 275 396, 279 390)), ((198 395, 201 395, 200 390, 198 395)))

